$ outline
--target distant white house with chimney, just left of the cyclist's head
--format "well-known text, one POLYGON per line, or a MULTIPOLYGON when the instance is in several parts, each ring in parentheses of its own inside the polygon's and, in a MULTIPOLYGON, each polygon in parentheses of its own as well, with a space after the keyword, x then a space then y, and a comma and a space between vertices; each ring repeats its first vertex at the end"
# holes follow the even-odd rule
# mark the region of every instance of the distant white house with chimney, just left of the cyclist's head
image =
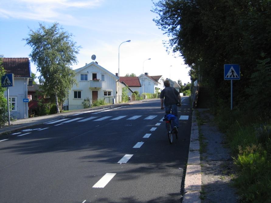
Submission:
POLYGON ((141 74, 138 76, 140 83, 141 83, 141 89, 140 94, 142 93, 160 93, 161 90, 163 90, 164 87, 164 79, 162 76, 149 76, 148 73, 141 74))

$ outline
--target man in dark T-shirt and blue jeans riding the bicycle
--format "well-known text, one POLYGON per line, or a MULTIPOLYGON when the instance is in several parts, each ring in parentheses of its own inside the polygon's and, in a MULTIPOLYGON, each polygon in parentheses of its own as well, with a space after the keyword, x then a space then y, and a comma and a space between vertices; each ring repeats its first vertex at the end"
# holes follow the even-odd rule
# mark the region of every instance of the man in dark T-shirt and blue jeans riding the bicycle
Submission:
POLYGON ((170 86, 169 80, 164 81, 165 89, 161 91, 161 109, 164 109, 163 103, 165 104, 165 113, 169 114, 170 111, 176 117, 173 120, 173 131, 178 133, 177 128, 179 127, 178 109, 177 106, 181 105, 181 96, 179 92, 170 86), (164 99, 165 98, 165 99, 164 99))

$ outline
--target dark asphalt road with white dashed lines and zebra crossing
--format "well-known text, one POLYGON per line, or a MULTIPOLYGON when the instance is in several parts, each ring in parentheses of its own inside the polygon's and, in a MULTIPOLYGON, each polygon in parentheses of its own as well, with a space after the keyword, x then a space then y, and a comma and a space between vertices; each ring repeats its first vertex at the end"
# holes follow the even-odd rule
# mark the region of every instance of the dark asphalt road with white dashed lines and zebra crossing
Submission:
POLYGON ((180 202, 189 97, 169 144, 160 100, 74 114, 0 140, 1 202, 180 202))

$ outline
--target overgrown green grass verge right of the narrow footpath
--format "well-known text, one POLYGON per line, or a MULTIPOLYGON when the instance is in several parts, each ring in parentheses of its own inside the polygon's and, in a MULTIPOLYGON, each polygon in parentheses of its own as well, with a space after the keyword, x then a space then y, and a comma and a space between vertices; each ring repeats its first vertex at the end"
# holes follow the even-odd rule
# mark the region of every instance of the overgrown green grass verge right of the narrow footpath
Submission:
POLYGON ((263 121, 251 112, 225 109, 217 111, 216 120, 227 135, 237 167, 233 179, 241 202, 270 202, 271 121, 263 121))

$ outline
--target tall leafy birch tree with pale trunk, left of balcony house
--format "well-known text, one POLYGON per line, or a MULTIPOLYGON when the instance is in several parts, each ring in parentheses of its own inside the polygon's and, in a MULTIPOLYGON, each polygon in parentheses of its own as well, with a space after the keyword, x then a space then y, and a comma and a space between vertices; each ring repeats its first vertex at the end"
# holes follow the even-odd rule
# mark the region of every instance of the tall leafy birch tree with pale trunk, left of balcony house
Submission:
POLYGON ((64 102, 76 84, 75 71, 70 66, 77 63, 76 54, 81 47, 76 46, 71 37, 72 34, 63 31, 58 23, 48 28, 40 23, 40 28, 30 29, 29 37, 24 39, 32 48, 29 56, 40 72, 44 93, 55 101, 57 113, 60 112, 59 103, 64 102))

